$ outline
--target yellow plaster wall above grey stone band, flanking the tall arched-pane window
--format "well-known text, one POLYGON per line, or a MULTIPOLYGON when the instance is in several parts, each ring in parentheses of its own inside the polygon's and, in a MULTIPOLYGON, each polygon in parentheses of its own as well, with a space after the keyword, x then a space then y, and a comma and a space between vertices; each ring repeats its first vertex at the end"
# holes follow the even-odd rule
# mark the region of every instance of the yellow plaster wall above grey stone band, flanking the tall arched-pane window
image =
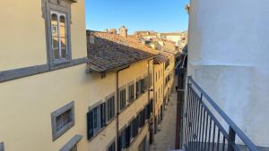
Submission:
MULTIPOLYGON (((0 71, 47 63, 41 0, 8 0, 0 8, 0 71)), ((72 57, 86 57, 84 0, 72 4, 72 57)))

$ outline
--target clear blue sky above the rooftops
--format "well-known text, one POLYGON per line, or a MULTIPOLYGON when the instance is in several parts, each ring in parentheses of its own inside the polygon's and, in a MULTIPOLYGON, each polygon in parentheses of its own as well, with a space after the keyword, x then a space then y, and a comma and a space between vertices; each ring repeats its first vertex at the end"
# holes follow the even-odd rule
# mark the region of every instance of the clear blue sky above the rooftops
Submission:
POLYGON ((85 3, 87 29, 102 31, 122 25, 131 33, 187 29, 188 0, 85 0, 85 3))

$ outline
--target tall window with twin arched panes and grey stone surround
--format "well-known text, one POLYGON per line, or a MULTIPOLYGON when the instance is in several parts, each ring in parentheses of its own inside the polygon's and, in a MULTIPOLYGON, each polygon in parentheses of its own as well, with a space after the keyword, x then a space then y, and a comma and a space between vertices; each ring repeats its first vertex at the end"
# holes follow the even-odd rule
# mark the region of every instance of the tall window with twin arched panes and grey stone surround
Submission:
POLYGON ((43 16, 47 27, 48 61, 50 65, 71 60, 71 3, 75 1, 43 0, 43 16), (44 14, 46 13, 46 14, 44 14))

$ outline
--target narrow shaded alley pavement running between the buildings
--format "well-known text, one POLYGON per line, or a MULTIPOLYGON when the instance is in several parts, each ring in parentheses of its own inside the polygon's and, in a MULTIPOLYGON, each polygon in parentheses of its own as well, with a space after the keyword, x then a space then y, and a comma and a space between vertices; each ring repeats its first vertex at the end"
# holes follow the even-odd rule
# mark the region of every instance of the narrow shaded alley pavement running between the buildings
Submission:
POLYGON ((177 86, 177 83, 178 78, 176 76, 173 92, 161 122, 161 130, 154 136, 154 142, 150 147, 151 151, 168 151, 169 149, 175 149, 177 115, 177 93, 175 86, 177 86))

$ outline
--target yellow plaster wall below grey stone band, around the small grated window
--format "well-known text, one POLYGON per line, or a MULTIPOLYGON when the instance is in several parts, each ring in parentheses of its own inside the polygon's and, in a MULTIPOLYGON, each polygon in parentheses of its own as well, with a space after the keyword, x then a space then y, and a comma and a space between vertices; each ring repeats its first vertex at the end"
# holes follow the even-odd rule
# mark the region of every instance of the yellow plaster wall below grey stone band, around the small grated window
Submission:
MULTIPOLYGON (((100 74, 85 74, 85 69, 82 64, 1 83, 0 139, 6 150, 58 150, 76 134, 83 136, 79 150, 96 146, 98 140, 88 143, 86 138, 86 113, 91 105, 115 92, 116 74, 100 79, 100 74), (50 113, 73 100, 75 125, 53 142, 50 113)), ((113 136, 114 126, 108 126, 113 136)), ((109 141, 108 137, 98 143, 109 141)))

